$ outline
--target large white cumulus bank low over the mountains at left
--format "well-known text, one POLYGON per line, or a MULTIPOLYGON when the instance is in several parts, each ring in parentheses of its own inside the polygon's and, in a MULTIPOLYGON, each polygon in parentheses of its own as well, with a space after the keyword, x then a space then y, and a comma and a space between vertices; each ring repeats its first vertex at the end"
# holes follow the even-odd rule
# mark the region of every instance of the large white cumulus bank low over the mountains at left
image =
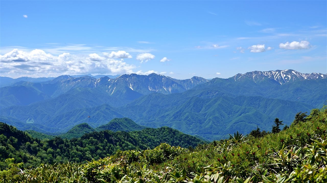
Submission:
POLYGON ((72 55, 62 53, 51 55, 43 50, 22 51, 14 49, 0 55, 2 73, 9 77, 55 77, 58 75, 77 74, 121 74, 133 73, 134 65, 123 59, 106 58, 92 53, 72 55))

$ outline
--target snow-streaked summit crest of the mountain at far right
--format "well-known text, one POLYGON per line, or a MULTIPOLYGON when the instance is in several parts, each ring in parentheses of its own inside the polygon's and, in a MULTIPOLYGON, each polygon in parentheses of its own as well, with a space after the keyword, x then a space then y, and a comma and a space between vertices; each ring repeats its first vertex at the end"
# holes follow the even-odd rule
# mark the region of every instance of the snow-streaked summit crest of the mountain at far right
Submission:
POLYGON ((240 81, 245 78, 250 78, 254 82, 261 81, 262 79, 272 79, 282 85, 290 81, 327 78, 327 74, 321 74, 321 73, 303 74, 292 69, 286 69, 286 70, 276 70, 276 71, 252 71, 252 72, 247 72, 245 74, 237 74, 232 78, 235 81, 240 81))

